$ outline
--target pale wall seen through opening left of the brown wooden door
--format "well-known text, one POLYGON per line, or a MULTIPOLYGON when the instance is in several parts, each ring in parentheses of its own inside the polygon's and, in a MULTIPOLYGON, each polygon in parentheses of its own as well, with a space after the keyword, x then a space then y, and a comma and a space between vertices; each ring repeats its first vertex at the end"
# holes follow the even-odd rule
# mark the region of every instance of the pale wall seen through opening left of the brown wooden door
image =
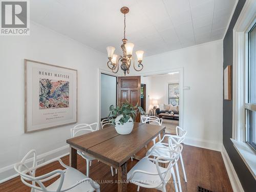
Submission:
POLYGON ((110 105, 116 105, 116 77, 101 74, 100 83, 100 116, 101 118, 108 117, 110 114, 110 105))

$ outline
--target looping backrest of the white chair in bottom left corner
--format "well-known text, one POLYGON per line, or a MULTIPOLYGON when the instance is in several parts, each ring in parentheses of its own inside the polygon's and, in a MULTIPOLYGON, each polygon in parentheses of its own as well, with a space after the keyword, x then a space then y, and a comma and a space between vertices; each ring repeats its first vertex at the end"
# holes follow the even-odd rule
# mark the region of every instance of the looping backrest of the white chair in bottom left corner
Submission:
POLYGON ((59 192, 62 184, 63 184, 63 180, 64 180, 64 170, 61 169, 57 169, 54 170, 48 174, 42 175, 42 176, 38 176, 35 177, 35 171, 38 167, 41 167, 44 164, 41 164, 40 166, 36 166, 36 151, 35 150, 31 150, 27 155, 25 155, 25 157, 22 159, 21 162, 17 163, 14 165, 14 169, 15 171, 20 175, 20 179, 22 180, 22 182, 27 185, 28 187, 31 188, 31 192, 34 192, 35 189, 36 190, 40 190, 40 191, 44 191, 44 192, 50 192, 49 190, 47 190, 47 188, 45 187, 45 185, 43 184, 43 182, 48 181, 56 176, 60 175, 60 182, 59 185, 56 189, 56 192, 59 192), (25 161, 27 159, 29 159, 29 157, 33 157, 33 165, 32 167, 28 167, 25 163, 25 161), (36 183, 39 185, 37 186, 36 183))

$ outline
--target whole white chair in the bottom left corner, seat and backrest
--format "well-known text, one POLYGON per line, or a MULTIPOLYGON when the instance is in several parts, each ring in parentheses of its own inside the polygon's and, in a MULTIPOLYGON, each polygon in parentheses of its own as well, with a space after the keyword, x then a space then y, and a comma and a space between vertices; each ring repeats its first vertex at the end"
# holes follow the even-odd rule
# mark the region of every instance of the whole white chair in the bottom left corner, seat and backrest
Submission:
POLYGON ((51 160, 38 166, 36 166, 36 159, 36 151, 31 150, 27 155, 25 155, 21 162, 14 165, 15 171, 20 175, 20 179, 25 185, 31 188, 31 192, 100 191, 100 186, 96 182, 83 175, 81 172, 79 172, 79 170, 67 166, 60 159, 51 160), (25 162, 30 156, 33 156, 33 165, 29 168, 25 162), (66 169, 53 170, 45 175, 35 177, 37 168, 54 161, 59 161, 59 163, 66 169), (54 183, 48 187, 44 185, 44 182, 57 176, 60 177, 54 183))

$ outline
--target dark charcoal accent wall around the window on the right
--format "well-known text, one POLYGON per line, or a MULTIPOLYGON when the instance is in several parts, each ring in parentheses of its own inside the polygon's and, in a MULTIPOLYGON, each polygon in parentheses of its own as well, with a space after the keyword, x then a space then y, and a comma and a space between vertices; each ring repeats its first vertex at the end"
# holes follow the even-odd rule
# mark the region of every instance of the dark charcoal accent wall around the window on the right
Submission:
MULTIPOLYGON (((236 10, 232 16, 227 33, 223 40, 223 69, 233 64, 233 27, 237 22, 239 14, 243 9, 246 0, 239 0, 236 10)), ((231 67, 232 69, 232 67, 231 67)), ((232 81, 231 81, 232 82, 232 81)), ((233 86, 233 82, 232 82, 233 86)), ((234 148, 232 138, 232 100, 223 100, 223 144, 228 156, 236 169, 239 180, 245 192, 256 191, 256 181, 244 161, 241 159, 237 150, 234 148)))

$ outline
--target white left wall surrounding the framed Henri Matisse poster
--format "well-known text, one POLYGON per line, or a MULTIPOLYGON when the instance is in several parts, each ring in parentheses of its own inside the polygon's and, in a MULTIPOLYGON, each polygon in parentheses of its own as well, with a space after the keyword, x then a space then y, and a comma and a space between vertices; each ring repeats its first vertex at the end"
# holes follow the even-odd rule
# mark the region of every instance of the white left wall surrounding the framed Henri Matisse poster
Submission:
MULTIPOLYGON (((85 37, 86 38, 86 37, 85 37)), ((106 55, 47 28, 31 24, 30 36, 0 36, 0 180, 32 148, 38 154, 62 147, 75 124, 24 134, 24 59, 78 70, 78 123, 98 120, 98 68, 106 55), (10 166, 8 166, 10 165, 10 166), (7 166, 7 167, 6 167, 7 166)), ((57 150, 58 151, 58 150, 57 150)), ((58 154, 55 153, 54 154, 58 154)), ((60 154, 61 154, 60 153, 60 154)), ((60 155, 59 154, 59 155, 60 155)), ((49 155, 49 153, 48 153, 49 155)))

